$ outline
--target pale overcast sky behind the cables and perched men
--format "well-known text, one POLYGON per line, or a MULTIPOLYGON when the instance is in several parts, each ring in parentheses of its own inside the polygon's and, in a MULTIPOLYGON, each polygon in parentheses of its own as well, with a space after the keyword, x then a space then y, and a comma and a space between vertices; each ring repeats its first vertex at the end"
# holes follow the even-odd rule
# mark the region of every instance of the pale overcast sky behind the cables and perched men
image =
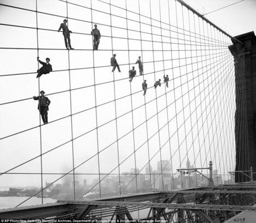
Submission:
MULTIPOLYGON (((187 159, 196 167, 207 167, 213 160, 213 168, 229 179, 227 172, 235 168, 234 58, 227 49, 230 39, 178 2, 175 5, 175 1, 168 4, 161 0, 160 4, 151 0, 151 13, 149 1, 140 1, 141 16, 138 0, 127 1, 127 9, 134 12, 128 11, 127 15, 124 0, 112 0, 111 9, 109 1, 93 0, 92 8, 98 11, 89 9, 89 0, 68 2, 84 8, 75 4, 66 8, 65 2, 57 0, 38 0, 40 13, 36 20, 34 11, 0 5, 0 21, 5 24, 0 25, 1 172, 37 157, 9 171, 34 174, 1 175, 0 187, 41 186, 41 175, 36 174, 41 173, 41 163, 43 185, 79 165, 75 172, 84 175, 77 179, 82 183, 86 178, 90 184, 99 173, 122 174, 135 164, 140 173, 145 173, 149 161, 156 169, 161 159, 172 164, 174 174, 177 168, 186 166, 187 159), (111 17, 106 14, 110 10, 111 17), (65 50, 62 33, 56 32, 67 11, 73 51, 65 50), (150 15, 154 20, 149 19, 150 15), (102 37, 99 50, 93 52, 90 32, 94 24, 98 24, 102 37), (111 24, 115 26, 112 30, 111 24), (117 54, 121 73, 111 72, 112 53, 117 54), (37 55, 42 61, 49 57, 53 67, 53 72, 42 75, 39 82, 35 73, 37 55), (144 76, 134 64, 138 56, 144 62, 144 76), (129 83, 132 66, 137 75, 129 83), (168 88, 163 83, 164 74, 170 78, 168 88), (145 97, 141 89, 144 79, 149 87, 145 97), (158 79, 162 86, 155 90, 153 84, 158 79), (52 102, 49 124, 41 129, 38 102, 32 99, 40 90, 52 102), (22 133, 11 136, 18 132, 22 133), (49 151, 42 162, 41 150, 49 151)), ((186 2, 203 13, 236 1, 186 2)), ((36 10, 33 0, 0 3, 36 10)), ((255 9, 256 3, 246 0, 206 17, 237 35, 255 30, 255 9)))

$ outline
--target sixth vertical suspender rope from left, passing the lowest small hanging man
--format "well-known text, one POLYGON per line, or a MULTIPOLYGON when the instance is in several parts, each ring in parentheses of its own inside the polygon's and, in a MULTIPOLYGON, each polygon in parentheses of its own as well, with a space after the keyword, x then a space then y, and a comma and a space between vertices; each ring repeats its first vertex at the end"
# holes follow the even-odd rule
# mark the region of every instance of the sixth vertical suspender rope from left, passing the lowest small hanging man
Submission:
MULTIPOLYGON (((139 22, 140 22, 140 0, 139 1, 139 22)), ((140 23, 140 46, 141 46, 141 58, 143 59, 143 45, 141 37, 141 23, 140 23)), ((141 60, 142 61, 142 60, 141 60)), ((143 81, 144 81, 144 68, 143 68, 143 81)), ((146 110, 146 96, 144 97, 145 119, 146 119, 146 134, 147 134, 147 156, 149 165, 149 179, 150 179, 150 191, 152 191, 152 179, 151 179, 151 166, 150 166, 150 152, 149 152, 149 130, 147 126, 147 110, 146 110)))

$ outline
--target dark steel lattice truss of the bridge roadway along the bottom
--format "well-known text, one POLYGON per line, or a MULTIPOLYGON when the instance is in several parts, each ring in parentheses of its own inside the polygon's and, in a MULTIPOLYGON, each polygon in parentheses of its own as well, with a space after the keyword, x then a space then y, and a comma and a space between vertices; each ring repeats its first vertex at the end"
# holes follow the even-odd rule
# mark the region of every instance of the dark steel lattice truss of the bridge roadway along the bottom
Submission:
POLYGON ((1 209, 0 219, 224 222, 244 210, 256 212, 255 202, 256 181, 251 181, 1 209), (134 213, 139 215, 134 216, 134 213))

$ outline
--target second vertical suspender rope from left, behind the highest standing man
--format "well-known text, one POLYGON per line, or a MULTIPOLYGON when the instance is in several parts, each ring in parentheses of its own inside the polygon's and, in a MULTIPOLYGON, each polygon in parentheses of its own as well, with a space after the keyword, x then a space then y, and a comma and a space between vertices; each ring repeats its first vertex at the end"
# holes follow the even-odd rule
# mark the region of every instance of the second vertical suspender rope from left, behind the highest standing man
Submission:
MULTIPOLYGON (((68 14, 68 3, 66 1, 67 7, 67 19, 69 18, 68 14)), ((71 46, 69 46, 71 48, 71 46)), ((70 92, 70 122, 71 122, 71 144, 72 144, 72 167, 73 167, 73 192, 74 200, 76 199, 76 181, 75 181, 75 160, 74 160, 74 145, 73 145, 73 116, 72 116, 72 99, 71 99, 71 76, 70 76, 70 50, 67 50, 69 56, 69 92, 70 92)))

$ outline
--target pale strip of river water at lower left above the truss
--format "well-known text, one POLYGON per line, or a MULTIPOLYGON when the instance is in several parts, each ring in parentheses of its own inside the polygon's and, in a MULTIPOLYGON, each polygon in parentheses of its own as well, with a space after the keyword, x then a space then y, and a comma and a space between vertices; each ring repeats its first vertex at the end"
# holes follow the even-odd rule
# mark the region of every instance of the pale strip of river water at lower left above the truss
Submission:
MULTIPOLYGON (((14 208, 22 201, 25 201, 29 197, 0 197, 0 209, 4 208, 14 208)), ((43 203, 55 203, 57 200, 53 198, 43 198, 43 203)), ((19 207, 32 206, 42 204, 42 198, 32 197, 25 203, 21 204, 19 207)))

